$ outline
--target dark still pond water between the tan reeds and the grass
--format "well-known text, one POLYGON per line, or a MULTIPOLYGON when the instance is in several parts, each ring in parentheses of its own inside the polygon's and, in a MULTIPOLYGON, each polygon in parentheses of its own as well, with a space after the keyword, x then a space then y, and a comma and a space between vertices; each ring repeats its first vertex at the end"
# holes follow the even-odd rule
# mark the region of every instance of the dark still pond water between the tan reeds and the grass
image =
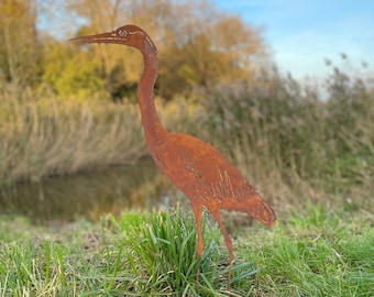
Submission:
MULTIPOLYGON (((26 216, 32 222, 96 221, 103 213, 170 204, 167 180, 151 157, 131 166, 111 166, 38 183, 0 189, 0 212, 26 216), (157 180, 162 180, 161 183, 157 180)), ((169 187, 170 188, 170 187, 169 187)))

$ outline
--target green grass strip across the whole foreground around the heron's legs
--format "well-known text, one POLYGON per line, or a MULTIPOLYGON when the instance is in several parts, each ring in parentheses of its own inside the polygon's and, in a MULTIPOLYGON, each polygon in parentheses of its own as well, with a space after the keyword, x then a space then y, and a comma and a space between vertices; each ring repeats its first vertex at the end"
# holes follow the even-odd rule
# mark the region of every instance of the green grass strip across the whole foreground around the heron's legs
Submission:
POLYGON ((231 231, 228 292, 228 253, 209 216, 199 260, 191 211, 179 208, 59 230, 2 217, 0 296, 373 296, 373 220, 309 207, 273 229, 231 231))

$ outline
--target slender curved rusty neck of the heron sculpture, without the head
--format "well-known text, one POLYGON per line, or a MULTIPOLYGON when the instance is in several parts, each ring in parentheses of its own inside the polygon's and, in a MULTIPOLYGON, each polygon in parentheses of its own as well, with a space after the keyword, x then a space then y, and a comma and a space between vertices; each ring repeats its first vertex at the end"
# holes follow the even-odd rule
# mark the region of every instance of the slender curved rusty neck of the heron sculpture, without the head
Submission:
MULTIPOLYGON (((153 88, 158 72, 156 53, 141 51, 144 59, 144 70, 138 86, 138 101, 142 114, 145 140, 150 147, 167 136, 162 125, 153 99, 153 88)), ((151 150, 152 152, 152 150, 151 150)))

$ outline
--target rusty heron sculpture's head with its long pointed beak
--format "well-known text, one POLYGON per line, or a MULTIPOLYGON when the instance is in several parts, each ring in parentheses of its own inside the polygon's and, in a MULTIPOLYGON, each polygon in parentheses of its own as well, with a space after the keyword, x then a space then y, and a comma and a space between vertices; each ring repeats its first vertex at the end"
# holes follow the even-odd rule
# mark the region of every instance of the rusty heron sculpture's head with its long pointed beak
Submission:
POLYGON ((145 31, 131 24, 120 26, 112 32, 77 37, 70 41, 77 43, 117 43, 133 46, 141 52, 157 52, 156 46, 145 31))

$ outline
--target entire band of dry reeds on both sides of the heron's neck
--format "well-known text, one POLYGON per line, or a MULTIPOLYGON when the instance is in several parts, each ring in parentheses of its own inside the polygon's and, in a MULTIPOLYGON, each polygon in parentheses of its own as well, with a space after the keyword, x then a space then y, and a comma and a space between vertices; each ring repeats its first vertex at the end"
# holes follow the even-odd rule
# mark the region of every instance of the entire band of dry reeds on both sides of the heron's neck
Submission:
MULTIPOLYGON (((283 207, 311 199, 371 209, 374 91, 338 69, 326 90, 321 100, 317 88, 275 73, 156 103, 170 132, 211 143, 283 207)), ((0 184, 147 154, 135 105, 0 96, 0 184)))

